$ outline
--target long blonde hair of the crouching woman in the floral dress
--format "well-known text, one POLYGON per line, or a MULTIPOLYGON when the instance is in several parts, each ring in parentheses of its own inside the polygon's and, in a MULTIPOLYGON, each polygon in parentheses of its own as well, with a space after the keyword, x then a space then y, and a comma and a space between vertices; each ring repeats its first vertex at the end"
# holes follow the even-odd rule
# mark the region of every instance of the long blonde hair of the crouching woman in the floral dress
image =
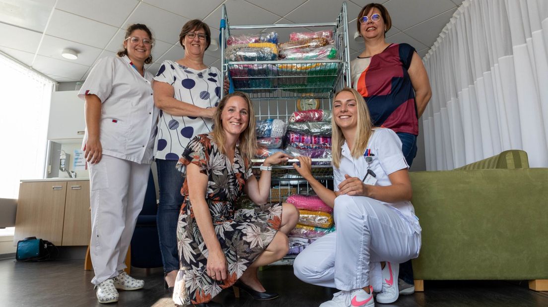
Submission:
POLYGON ((226 103, 232 97, 242 97, 247 103, 249 122, 247 128, 239 136, 238 150, 240 152, 240 155, 242 155, 242 157, 244 158, 247 158, 247 160, 249 161, 253 158, 255 152, 257 151, 257 138, 255 135, 255 112, 253 111, 253 103, 246 95, 246 93, 236 91, 222 98, 217 110, 215 111, 215 116, 213 119, 215 123, 215 127, 213 128, 212 133, 213 139, 215 140, 215 143, 217 143, 221 154, 226 155, 226 150, 224 147, 225 133, 222 128, 221 113, 222 109, 225 108, 226 103))

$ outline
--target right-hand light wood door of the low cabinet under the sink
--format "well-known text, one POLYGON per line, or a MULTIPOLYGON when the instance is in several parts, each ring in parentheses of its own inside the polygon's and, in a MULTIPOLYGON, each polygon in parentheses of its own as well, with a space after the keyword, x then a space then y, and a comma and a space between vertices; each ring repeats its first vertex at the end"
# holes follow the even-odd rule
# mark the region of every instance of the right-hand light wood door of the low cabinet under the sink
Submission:
POLYGON ((88 245, 91 235, 89 181, 67 181, 62 245, 88 245))

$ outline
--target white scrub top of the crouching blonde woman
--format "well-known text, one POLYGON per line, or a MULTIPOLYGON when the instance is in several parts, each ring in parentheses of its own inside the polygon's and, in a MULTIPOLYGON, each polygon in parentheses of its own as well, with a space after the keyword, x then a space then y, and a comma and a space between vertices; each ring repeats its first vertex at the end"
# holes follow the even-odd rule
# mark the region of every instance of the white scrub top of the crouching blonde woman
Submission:
MULTIPOLYGON (((355 159, 350 154, 348 144, 341 146, 341 161, 339 168, 333 169, 334 190, 339 191, 339 184, 345 180, 345 174, 351 177, 363 179, 370 168, 376 175, 378 186, 390 186, 392 182, 388 175, 400 169, 409 168, 402 154, 402 142, 398 135, 388 128, 374 128, 369 138, 366 150, 374 155, 371 163, 366 162, 364 155, 355 159)), ((421 232, 419 219, 415 216, 415 209, 411 202, 386 203, 380 202, 395 210, 400 216, 410 223, 416 232, 421 232)))

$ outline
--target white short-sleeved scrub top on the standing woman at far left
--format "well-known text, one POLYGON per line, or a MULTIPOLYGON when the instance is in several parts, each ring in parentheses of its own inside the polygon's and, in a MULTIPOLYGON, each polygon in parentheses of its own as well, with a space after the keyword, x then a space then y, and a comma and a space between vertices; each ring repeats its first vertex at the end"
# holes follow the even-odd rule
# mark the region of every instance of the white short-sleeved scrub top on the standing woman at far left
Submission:
MULTIPOLYGON (((136 163, 152 163, 159 110, 152 99, 152 74, 141 76, 127 56, 105 57, 95 64, 78 92, 102 103, 102 154, 136 163)), ((86 128, 82 147, 88 140, 86 128)))

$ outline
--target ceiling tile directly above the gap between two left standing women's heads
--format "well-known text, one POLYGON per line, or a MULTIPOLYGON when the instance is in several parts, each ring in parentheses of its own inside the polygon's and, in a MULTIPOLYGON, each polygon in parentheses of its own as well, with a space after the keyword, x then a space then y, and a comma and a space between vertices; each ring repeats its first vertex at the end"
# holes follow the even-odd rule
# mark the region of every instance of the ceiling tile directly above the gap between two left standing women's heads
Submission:
POLYGON ((144 23, 150 28, 156 39, 175 43, 179 40, 182 25, 187 21, 189 19, 185 17, 141 2, 122 28, 125 29, 132 23, 144 23))

